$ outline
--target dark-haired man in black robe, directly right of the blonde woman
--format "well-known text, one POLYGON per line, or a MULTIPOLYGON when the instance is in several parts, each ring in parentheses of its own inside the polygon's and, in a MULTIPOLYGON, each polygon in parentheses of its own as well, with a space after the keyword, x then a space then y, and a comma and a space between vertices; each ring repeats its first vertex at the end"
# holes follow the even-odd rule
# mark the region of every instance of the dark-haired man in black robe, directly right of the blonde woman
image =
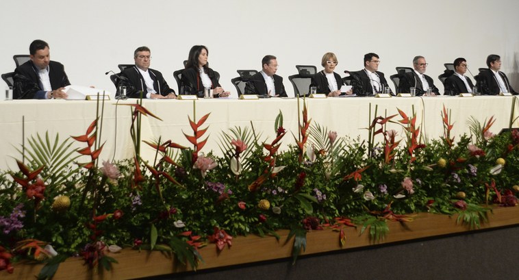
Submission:
MULTIPOLYGON (((379 55, 377 53, 366 53, 364 55, 364 69, 351 72, 351 86, 353 94, 357 96, 368 96, 383 92, 388 86, 384 73, 379 72, 379 55)), ((391 90, 390 90, 391 92, 391 90)))

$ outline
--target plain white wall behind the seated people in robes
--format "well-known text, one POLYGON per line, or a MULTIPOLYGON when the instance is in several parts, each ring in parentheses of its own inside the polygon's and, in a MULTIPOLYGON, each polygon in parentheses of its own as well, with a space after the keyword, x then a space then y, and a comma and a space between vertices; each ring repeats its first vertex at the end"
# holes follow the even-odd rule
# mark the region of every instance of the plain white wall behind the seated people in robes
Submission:
POLYGON ((42 39, 73 84, 113 91, 104 73, 133 63, 134 49, 146 45, 151 67, 176 90, 173 71, 192 45, 205 44, 220 84, 235 96, 236 69, 259 69, 266 54, 277 55, 278 74, 293 94, 294 65, 318 66, 327 51, 338 55, 341 74, 361 69, 364 53, 378 53, 387 77, 424 55, 441 91, 445 62, 462 56, 475 75, 496 53, 519 89, 518 8, 517 0, 2 0, 0 73, 13 71, 12 55, 42 39))

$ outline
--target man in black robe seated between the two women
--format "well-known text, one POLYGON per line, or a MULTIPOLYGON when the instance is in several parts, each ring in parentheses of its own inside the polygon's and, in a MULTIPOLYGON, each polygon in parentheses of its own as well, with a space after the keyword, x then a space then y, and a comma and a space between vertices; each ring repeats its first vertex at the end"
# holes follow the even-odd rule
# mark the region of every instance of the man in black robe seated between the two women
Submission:
POLYGON ((277 58, 265 55, 262 60, 262 71, 254 74, 245 85, 245 94, 258 94, 260 97, 288 97, 283 78, 276 75, 277 58))

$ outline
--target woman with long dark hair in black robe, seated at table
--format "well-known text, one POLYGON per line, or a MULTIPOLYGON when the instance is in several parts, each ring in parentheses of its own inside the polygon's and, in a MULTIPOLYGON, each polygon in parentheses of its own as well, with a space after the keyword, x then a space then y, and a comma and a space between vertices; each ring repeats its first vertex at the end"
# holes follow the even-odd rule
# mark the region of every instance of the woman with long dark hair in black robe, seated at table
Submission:
POLYGON ((229 92, 223 90, 218 83, 218 77, 207 64, 207 55, 209 51, 205 46, 193 46, 189 51, 188 63, 181 78, 184 92, 203 98, 203 90, 210 88, 213 97, 228 97, 229 92))

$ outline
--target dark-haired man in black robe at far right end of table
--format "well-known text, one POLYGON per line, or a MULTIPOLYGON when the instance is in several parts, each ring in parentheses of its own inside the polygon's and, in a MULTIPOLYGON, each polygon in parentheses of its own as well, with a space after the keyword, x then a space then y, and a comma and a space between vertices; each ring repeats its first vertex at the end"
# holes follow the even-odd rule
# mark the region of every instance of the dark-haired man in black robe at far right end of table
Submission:
POLYGON ((477 87, 481 94, 497 95, 499 92, 518 94, 511 88, 507 75, 499 71, 501 69, 501 57, 499 55, 488 55, 488 70, 481 71, 477 79, 477 87))

